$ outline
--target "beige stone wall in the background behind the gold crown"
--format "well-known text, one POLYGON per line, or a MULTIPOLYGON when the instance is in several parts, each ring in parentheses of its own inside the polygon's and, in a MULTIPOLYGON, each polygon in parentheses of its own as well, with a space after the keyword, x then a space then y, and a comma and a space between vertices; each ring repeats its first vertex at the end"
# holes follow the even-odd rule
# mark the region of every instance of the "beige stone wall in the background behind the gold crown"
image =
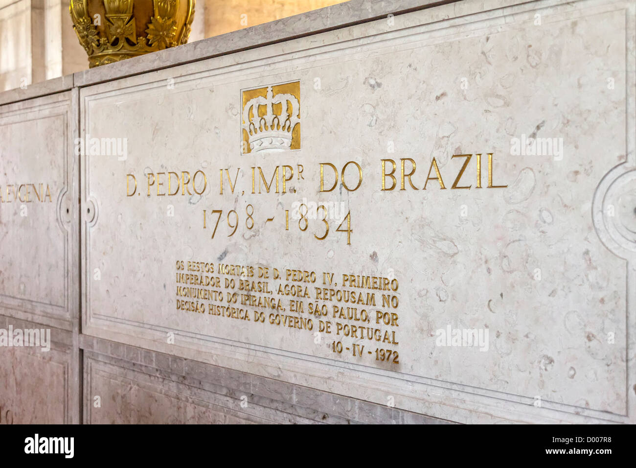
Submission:
MULTIPOLYGON (((336 0, 198 0, 190 42, 341 3, 336 0)), ((0 0, 0 90, 88 69, 69 0, 0 0)))

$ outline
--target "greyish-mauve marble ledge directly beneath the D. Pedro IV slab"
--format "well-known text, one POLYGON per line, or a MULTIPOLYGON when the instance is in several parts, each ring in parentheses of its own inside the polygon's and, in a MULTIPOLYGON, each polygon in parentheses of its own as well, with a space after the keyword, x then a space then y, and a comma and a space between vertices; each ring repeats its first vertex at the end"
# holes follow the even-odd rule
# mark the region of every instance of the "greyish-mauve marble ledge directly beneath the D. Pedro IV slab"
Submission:
MULTIPOLYGON (((265 378, 247 372, 137 348, 128 344, 107 341, 98 337, 79 335, 79 348, 84 358, 130 369, 168 382, 198 388, 205 394, 237 400, 249 395, 250 401, 268 411, 284 411, 287 415, 310 420, 315 415, 325 416, 317 422, 340 423, 399 423, 448 424, 452 423, 404 409, 392 408, 368 401, 332 394, 306 386, 265 378), (314 416, 312 416, 314 415, 314 416), (328 416, 328 417, 327 417, 328 416), (324 421, 326 420, 326 421, 324 421)), ((222 402, 217 401, 216 404, 222 402)), ((229 408, 229 407, 228 407, 229 408)), ((298 420, 296 422, 303 422, 298 420)))

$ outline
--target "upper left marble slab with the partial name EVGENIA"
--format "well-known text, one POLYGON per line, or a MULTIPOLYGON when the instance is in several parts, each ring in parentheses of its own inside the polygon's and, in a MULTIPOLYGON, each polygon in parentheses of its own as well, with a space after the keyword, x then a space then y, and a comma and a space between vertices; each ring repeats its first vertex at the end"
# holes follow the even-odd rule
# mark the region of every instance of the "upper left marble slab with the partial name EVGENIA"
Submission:
POLYGON ((0 106, 0 315, 67 330, 79 316, 77 94, 0 106))

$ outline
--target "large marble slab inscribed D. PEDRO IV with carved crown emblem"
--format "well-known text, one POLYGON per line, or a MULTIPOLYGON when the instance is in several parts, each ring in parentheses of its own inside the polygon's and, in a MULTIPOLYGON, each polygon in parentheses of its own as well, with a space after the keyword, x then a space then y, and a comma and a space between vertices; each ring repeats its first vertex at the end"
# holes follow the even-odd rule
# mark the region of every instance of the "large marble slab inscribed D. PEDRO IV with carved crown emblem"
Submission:
POLYGON ((82 157, 83 332, 457 422, 633 422, 634 10, 460 2, 82 88, 118 145, 82 157))

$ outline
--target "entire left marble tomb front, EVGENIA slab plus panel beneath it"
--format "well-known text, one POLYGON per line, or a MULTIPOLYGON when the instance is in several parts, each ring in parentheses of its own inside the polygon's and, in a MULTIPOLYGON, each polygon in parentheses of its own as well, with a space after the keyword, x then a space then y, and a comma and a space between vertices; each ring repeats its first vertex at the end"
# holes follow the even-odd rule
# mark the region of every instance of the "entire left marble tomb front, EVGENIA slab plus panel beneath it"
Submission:
POLYGON ((0 423, 80 422, 78 91, 62 82, 0 94, 22 99, 0 106, 0 423))

